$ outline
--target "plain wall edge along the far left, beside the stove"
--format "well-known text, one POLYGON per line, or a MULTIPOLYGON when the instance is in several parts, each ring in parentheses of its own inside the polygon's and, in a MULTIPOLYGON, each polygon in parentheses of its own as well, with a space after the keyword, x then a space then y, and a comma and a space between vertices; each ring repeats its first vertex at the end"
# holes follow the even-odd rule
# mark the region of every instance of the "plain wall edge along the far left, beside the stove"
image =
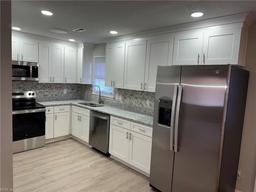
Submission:
POLYGON ((11 1, 0 1, 0 188, 13 188, 11 1))

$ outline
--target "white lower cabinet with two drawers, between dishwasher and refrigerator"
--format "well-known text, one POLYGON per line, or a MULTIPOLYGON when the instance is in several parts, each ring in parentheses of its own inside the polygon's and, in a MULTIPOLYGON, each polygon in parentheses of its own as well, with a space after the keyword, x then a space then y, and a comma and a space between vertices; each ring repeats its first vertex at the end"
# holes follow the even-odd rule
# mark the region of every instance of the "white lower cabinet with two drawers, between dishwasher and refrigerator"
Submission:
POLYGON ((151 127, 111 116, 109 153, 149 174, 152 137, 146 135, 150 131, 152 132, 151 127), (118 120, 118 126, 113 119, 118 120), (127 124, 129 127, 124 128, 127 124), (140 130, 132 131, 135 130, 134 126, 140 127, 140 130))

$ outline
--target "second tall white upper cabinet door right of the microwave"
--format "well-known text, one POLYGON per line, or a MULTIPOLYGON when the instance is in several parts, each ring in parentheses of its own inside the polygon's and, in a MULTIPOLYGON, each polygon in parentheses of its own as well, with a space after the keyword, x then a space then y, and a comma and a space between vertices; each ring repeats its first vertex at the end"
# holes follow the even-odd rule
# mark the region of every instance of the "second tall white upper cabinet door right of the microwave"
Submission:
POLYGON ((52 82, 64 83, 64 46, 52 45, 52 82))

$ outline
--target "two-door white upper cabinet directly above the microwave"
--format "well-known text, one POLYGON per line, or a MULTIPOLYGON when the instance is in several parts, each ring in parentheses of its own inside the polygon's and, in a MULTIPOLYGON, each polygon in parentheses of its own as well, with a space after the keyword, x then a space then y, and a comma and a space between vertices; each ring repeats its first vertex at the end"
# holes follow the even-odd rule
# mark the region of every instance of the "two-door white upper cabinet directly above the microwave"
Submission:
POLYGON ((38 40, 12 36, 12 60, 38 63, 38 40))

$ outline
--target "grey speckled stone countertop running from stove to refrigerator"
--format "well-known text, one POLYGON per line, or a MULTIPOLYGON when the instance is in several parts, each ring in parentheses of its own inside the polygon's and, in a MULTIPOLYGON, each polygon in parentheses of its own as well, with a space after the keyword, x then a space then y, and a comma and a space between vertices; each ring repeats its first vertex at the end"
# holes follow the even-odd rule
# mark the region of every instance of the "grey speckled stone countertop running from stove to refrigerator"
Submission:
MULTIPOLYGON (((115 116, 118 118, 122 118, 125 120, 129 120, 132 122, 140 123, 146 126, 153 127, 153 116, 149 115, 144 115, 144 114, 139 114, 136 112, 131 112, 128 110, 123 110, 120 108, 116 108, 113 106, 102 106, 102 107, 90 107, 90 106, 85 106, 82 104, 78 103, 84 103, 84 102, 90 102, 90 101, 85 101, 85 100, 64 100, 64 101, 49 101, 49 102, 38 102, 39 104, 45 105, 46 107, 48 106, 61 106, 61 105, 74 105, 78 107, 82 107, 85 109, 89 110, 94 110, 98 112, 102 112, 105 114, 109 114, 111 116, 115 116)), ((95 102, 92 102, 95 103, 95 102)), ((97 103, 95 103, 97 104, 97 103)))

